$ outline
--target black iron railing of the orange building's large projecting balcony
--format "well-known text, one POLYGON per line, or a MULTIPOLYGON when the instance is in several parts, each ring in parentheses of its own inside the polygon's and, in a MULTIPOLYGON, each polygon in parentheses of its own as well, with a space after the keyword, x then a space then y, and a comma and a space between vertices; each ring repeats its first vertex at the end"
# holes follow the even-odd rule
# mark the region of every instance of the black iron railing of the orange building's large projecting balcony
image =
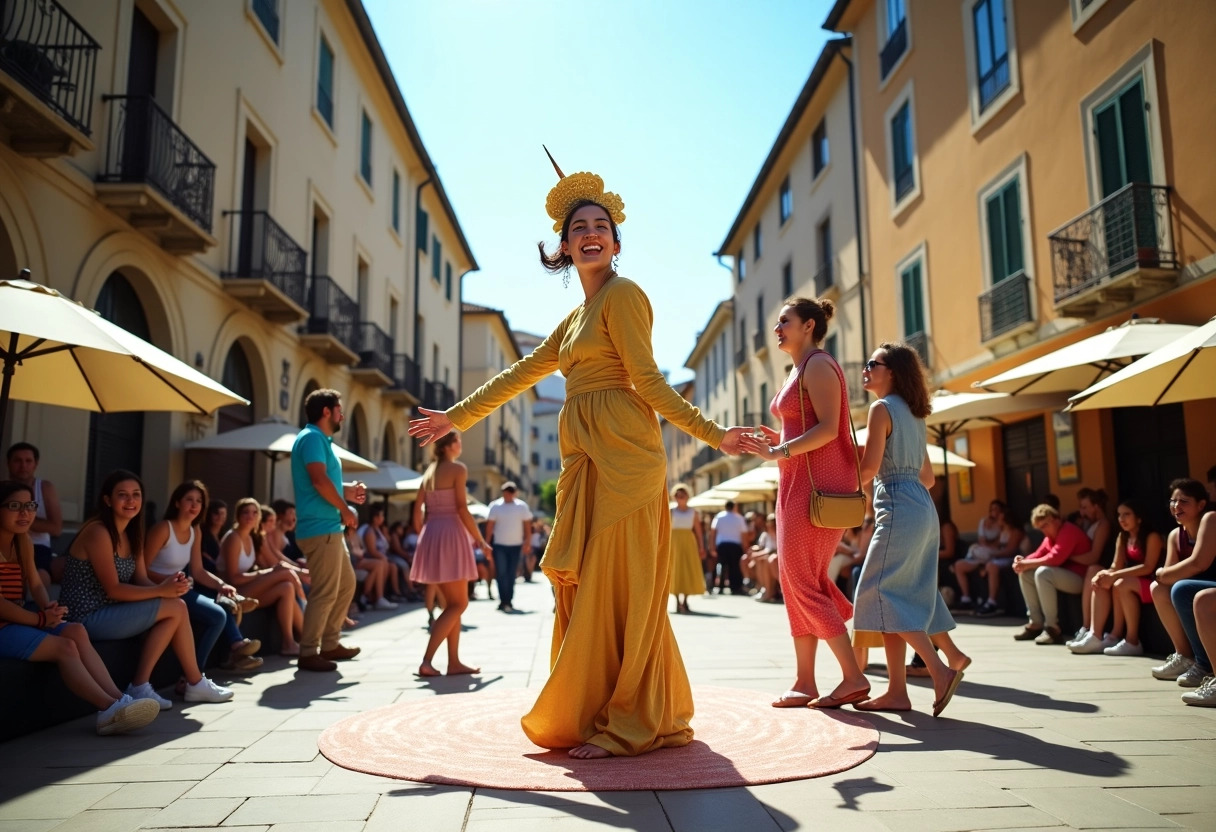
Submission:
POLYGON ((1130 182, 1047 236, 1055 304, 1133 269, 1178 269, 1170 189, 1130 182))

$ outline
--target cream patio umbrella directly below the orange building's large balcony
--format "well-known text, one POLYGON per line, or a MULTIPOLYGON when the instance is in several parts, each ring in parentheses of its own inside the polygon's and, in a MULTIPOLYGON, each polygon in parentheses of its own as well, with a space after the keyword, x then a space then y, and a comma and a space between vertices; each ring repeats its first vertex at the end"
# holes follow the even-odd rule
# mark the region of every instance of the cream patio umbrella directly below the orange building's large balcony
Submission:
POLYGON ((1105 332, 1062 347, 973 387, 990 393, 1075 393, 1135 359, 1176 342, 1194 326, 1162 324, 1156 317, 1133 317, 1105 332))

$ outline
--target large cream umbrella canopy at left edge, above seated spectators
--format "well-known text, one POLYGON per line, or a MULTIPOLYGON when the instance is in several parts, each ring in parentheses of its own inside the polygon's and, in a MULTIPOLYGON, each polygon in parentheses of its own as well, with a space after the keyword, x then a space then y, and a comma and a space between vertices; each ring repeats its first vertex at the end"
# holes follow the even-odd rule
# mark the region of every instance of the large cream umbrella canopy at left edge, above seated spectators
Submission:
POLYGON ((108 414, 210 414, 249 404, 96 311, 35 283, 0 280, 0 431, 9 400, 108 414))

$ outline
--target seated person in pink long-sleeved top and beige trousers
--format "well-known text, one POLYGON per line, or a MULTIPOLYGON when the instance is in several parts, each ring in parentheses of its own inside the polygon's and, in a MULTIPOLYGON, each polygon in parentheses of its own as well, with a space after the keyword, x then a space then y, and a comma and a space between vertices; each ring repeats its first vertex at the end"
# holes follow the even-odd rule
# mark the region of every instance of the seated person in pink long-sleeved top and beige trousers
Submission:
POLYGON ((1030 522, 1043 533, 1043 543, 1034 553, 1013 558, 1013 570, 1030 617, 1030 623, 1013 637, 1018 641, 1034 639, 1036 645, 1062 645, 1058 594, 1081 592, 1086 564, 1075 558, 1090 552, 1090 538, 1073 523, 1060 519, 1059 512, 1046 504, 1035 506, 1030 522))

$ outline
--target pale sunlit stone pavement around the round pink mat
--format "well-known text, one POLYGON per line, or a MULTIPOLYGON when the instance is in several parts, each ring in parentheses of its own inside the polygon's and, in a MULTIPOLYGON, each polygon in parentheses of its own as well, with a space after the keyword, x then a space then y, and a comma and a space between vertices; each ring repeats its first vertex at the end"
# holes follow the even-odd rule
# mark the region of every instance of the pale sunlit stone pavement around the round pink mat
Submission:
MULTIPOLYGON (((317 735, 359 710, 435 692, 478 687, 489 701, 496 690, 537 687, 552 622, 547 585, 520 583, 516 601, 528 612, 469 607, 461 647, 482 665, 479 680, 415 679, 426 613, 411 606, 364 615, 350 634, 364 654, 340 678, 297 676, 287 659, 271 658, 266 671, 232 680, 232 703, 178 702, 137 735, 97 737, 85 719, 2 743, 0 832, 1216 830, 1216 709, 1183 705, 1181 688, 1149 676, 1153 659, 1014 642, 1009 619, 961 619, 956 637, 975 663, 948 719, 928 715, 931 688, 913 680, 914 713, 872 716, 878 753, 817 780, 505 792, 372 777, 317 753, 317 735)), ((692 606, 698 614, 672 623, 693 684, 788 687, 782 607, 734 596, 692 606)), ((821 686, 829 690, 838 673, 820 651, 821 686)), ((872 674, 876 687, 882 674, 872 674)), ((517 726, 505 719, 503 730, 517 726)))

